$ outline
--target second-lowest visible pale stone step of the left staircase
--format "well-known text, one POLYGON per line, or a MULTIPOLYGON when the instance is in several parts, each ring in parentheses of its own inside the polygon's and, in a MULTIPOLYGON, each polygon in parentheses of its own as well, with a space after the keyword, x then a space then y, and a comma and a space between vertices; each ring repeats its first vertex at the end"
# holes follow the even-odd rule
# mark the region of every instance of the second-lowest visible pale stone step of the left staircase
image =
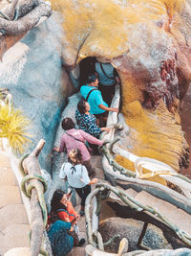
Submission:
POLYGON ((0 232, 10 223, 29 224, 23 204, 9 204, 0 209, 0 232))

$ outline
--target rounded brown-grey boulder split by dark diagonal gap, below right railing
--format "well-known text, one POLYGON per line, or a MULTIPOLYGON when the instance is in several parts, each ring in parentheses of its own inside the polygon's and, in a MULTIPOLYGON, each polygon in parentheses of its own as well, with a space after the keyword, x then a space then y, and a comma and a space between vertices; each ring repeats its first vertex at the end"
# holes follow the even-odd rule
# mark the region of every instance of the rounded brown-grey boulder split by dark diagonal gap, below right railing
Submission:
MULTIPOLYGON (((99 232, 103 237, 103 242, 107 242, 115 235, 119 235, 112 244, 105 247, 106 251, 117 253, 118 245, 123 238, 129 242, 129 251, 138 249, 138 238, 143 227, 142 221, 133 219, 110 218, 102 221, 99 225, 99 232)), ((162 232, 156 226, 149 224, 145 236, 142 240, 144 245, 151 249, 172 248, 164 238, 162 232)))

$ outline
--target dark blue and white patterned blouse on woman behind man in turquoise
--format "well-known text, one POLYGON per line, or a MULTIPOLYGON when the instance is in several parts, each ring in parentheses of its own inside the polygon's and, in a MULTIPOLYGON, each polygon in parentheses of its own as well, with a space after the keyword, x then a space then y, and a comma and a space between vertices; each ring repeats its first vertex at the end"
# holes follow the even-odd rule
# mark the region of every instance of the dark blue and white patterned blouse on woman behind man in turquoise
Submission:
POLYGON ((77 126, 80 129, 98 138, 101 132, 101 128, 99 128, 96 125, 96 117, 94 115, 81 114, 78 110, 76 110, 75 120, 76 120, 77 126))

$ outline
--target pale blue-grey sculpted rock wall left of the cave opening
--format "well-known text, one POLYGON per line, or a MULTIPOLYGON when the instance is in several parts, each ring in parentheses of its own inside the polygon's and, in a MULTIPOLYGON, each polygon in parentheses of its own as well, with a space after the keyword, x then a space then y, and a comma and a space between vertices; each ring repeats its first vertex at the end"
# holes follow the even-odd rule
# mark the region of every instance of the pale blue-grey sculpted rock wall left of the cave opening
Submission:
POLYGON ((47 170, 50 170, 60 113, 66 105, 67 95, 74 90, 62 68, 59 20, 61 17, 54 13, 46 22, 33 28, 0 63, 0 86, 10 89, 13 105, 32 120, 31 149, 39 139, 46 140, 39 159, 42 168, 47 170))

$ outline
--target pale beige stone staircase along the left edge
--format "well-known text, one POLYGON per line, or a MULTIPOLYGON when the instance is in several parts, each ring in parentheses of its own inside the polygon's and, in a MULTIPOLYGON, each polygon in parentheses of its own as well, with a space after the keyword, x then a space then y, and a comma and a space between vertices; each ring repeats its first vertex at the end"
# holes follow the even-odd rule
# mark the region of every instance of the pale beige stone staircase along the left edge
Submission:
POLYGON ((13 247, 29 247, 30 224, 9 156, 0 148, 0 256, 13 247))

